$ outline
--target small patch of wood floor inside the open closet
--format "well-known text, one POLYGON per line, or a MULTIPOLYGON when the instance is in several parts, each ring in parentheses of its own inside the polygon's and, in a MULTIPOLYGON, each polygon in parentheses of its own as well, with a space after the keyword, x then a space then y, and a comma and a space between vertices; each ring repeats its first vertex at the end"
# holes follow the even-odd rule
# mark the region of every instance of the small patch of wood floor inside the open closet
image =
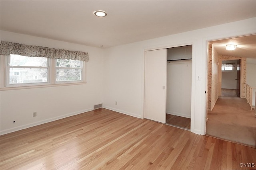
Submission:
POLYGON ((166 124, 190 129, 190 118, 166 114, 166 124))

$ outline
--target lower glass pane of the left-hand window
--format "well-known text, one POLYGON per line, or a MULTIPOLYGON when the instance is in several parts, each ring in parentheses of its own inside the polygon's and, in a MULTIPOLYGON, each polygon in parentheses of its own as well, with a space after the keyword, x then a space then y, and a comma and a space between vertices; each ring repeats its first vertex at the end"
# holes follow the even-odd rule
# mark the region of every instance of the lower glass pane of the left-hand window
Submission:
POLYGON ((47 82, 48 68, 10 68, 9 84, 47 82))

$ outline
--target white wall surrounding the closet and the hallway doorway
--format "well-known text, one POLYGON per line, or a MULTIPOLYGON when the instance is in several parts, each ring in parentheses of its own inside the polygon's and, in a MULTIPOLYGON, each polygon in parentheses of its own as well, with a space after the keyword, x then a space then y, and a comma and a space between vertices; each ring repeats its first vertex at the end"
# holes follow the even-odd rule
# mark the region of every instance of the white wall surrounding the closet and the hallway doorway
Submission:
POLYGON ((104 107, 144 117, 144 51, 193 45, 191 131, 204 135, 207 41, 256 33, 254 23, 251 18, 106 49, 104 107))

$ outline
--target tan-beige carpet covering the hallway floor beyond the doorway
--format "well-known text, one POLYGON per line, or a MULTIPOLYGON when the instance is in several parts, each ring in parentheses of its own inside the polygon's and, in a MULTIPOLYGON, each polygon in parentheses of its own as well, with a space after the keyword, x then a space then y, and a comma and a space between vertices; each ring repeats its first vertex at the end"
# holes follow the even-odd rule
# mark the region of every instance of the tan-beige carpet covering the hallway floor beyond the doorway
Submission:
POLYGON ((246 99, 220 96, 208 111, 206 135, 256 147, 256 117, 246 99))

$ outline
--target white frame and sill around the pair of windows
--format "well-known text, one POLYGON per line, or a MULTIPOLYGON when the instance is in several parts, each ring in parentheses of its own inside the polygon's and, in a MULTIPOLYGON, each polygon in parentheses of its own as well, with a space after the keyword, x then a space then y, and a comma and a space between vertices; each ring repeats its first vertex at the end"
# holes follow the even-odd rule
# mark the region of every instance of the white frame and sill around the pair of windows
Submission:
MULTIPOLYGON (((15 90, 15 89, 25 89, 25 88, 42 88, 42 87, 52 87, 52 86, 70 86, 86 84, 86 62, 81 61, 81 80, 78 81, 56 81, 56 59, 47 58, 48 61, 48 82, 35 82, 35 83, 20 83, 20 84, 10 84, 9 75, 10 72, 10 55, 0 55, 0 91, 2 90, 15 90), (9 71, 8 71, 9 69, 9 71)), ((20 68, 21 66, 16 66, 20 68)), ((33 68, 33 66, 22 66, 26 68, 33 68)), ((38 68, 36 66, 35 68, 38 68)), ((45 67, 43 67, 45 68, 45 67)))

